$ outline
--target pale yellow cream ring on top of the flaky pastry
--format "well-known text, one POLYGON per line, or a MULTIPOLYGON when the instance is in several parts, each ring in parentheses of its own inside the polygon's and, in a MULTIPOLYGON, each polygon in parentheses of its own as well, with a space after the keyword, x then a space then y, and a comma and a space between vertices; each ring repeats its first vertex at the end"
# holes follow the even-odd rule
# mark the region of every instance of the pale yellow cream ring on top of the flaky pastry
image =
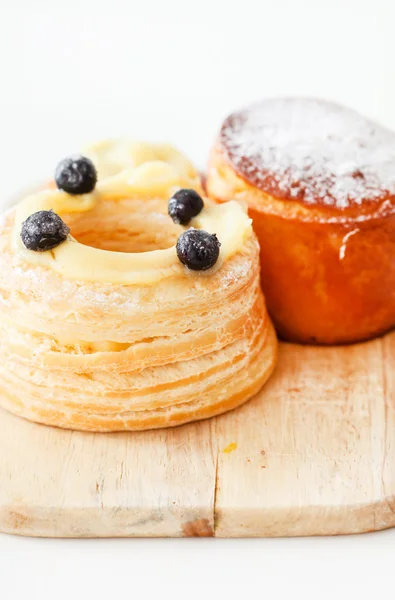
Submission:
MULTIPOLYGON (((28 196, 17 206, 12 244, 20 258, 52 268, 70 279, 114 284, 149 284, 186 274, 175 246, 139 253, 112 252, 81 244, 70 235, 51 251, 33 252, 25 248, 20 238, 22 222, 38 210, 53 209, 62 216, 89 211, 101 200, 168 199, 181 187, 201 189, 199 175, 189 161, 166 144, 105 141, 88 148, 84 154, 92 158, 98 170, 94 192, 71 196, 59 190, 45 190, 28 196)), ((206 275, 240 250, 252 231, 244 208, 234 201, 217 205, 205 200, 204 209, 190 226, 216 233, 221 242, 220 259, 206 275)))

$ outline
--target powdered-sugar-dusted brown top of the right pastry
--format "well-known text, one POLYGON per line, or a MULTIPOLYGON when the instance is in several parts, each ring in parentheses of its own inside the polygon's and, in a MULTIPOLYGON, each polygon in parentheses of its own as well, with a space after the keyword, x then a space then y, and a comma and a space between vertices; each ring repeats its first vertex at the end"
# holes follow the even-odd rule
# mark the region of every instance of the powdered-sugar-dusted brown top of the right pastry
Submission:
POLYGON ((395 195, 395 133, 322 100, 265 100, 226 119, 235 170, 279 198, 347 208, 395 195))

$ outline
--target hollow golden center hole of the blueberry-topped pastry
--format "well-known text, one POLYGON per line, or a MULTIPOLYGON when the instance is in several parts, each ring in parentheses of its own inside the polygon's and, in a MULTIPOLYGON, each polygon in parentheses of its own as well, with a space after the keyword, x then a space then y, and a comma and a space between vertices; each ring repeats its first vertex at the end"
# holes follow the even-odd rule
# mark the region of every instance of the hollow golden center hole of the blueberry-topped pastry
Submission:
POLYGON ((184 230, 167 214, 164 199, 103 200, 86 213, 62 218, 78 242, 113 252, 170 248, 184 230))

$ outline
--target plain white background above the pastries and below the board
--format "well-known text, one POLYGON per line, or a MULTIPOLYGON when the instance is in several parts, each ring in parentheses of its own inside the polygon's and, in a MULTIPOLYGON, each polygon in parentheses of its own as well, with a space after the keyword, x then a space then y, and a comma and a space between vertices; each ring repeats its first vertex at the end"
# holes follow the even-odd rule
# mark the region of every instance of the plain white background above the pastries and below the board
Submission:
MULTIPOLYGON (((0 194, 95 138, 173 141, 204 165, 222 118, 314 95, 395 128, 393 0, 0 0, 0 194)), ((1 203, 1 202, 0 202, 1 203)), ((0 535, 0 598, 393 595, 395 530, 331 539, 0 535)))

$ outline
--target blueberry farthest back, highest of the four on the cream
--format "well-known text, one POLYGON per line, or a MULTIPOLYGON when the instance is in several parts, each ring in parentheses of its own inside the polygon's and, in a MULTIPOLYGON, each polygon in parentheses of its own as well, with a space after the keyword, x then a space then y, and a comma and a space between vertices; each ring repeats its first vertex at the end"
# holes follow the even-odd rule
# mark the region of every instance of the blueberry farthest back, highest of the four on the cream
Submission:
POLYGON ((86 156, 69 156, 56 167, 55 181, 58 188, 68 194, 89 194, 95 189, 97 173, 86 156))

